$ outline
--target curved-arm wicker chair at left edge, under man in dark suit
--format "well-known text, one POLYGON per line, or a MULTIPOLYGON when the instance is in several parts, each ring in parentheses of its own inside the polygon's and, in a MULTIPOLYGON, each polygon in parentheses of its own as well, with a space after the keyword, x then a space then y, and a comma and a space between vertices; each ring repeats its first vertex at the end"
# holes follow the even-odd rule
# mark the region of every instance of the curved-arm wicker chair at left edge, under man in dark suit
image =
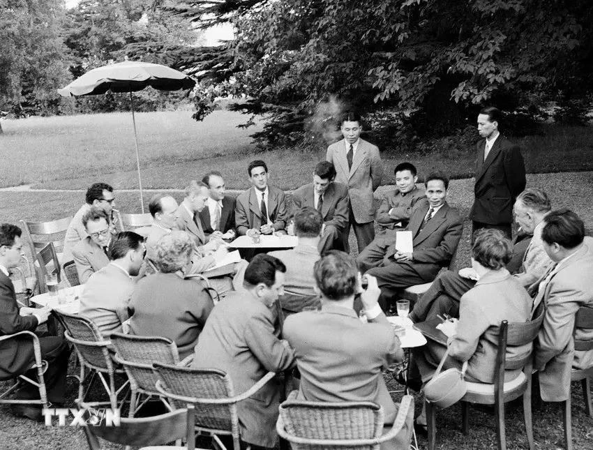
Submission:
POLYGON ((0 381, 12 380, 15 378, 15 384, 10 386, 6 391, 0 394, 0 405, 1 404, 27 404, 27 405, 43 405, 44 407, 50 407, 47 402, 47 391, 45 390, 45 379, 43 373, 47 370, 47 361, 41 359, 41 347, 39 345, 39 338, 35 333, 31 331, 19 331, 18 333, 10 334, 7 336, 0 336, 0 345, 7 345, 10 340, 22 340, 24 338, 31 338, 33 341, 33 354, 35 354, 35 363, 31 366, 31 369, 37 369, 37 381, 31 380, 26 375, 18 375, 17 377, 9 377, 6 379, 0 379, 0 381), (13 393, 23 383, 33 384, 39 390, 39 400, 19 400, 15 398, 7 398, 10 393, 13 393))

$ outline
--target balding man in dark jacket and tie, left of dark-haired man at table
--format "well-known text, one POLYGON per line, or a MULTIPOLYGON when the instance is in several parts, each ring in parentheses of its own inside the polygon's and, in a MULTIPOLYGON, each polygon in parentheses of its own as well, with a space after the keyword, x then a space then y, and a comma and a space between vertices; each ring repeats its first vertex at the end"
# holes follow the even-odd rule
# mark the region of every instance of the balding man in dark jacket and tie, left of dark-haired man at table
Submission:
POLYGON ((200 221, 206 239, 233 239, 234 231, 234 197, 225 195, 225 180, 220 172, 213 170, 202 178, 208 186, 206 208, 200 211, 200 221))

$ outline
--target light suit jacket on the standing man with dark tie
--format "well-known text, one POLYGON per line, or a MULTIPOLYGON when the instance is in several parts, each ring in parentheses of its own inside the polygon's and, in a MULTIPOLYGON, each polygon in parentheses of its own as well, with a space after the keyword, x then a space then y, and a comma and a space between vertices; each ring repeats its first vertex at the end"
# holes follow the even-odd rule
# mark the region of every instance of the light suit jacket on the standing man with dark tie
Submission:
POLYGON ((346 153, 345 141, 340 140, 327 147, 326 160, 336 167, 336 182, 348 186, 350 209, 356 223, 373 222, 373 192, 379 187, 383 177, 379 149, 365 140, 359 140, 350 170, 346 153))

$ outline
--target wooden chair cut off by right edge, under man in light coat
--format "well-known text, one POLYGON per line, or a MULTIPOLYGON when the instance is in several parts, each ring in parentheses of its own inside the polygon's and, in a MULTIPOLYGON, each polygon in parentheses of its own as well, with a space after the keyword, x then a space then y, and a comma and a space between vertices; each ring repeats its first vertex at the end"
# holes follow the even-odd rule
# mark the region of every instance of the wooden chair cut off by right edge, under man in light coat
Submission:
MULTIPOLYGON (((593 308, 581 306, 574 321, 575 331, 579 329, 593 329, 593 308)), ((574 340, 574 350, 593 350, 593 340, 574 340)), ((571 382, 580 381, 583 386, 583 397, 585 398, 585 411, 589 417, 593 418, 593 407, 591 405, 591 382, 590 377, 593 377, 593 366, 582 370, 571 370, 571 382)), ((563 419, 564 419, 564 440, 566 442, 566 450, 572 450, 572 425, 571 425, 571 396, 563 403, 563 419)))

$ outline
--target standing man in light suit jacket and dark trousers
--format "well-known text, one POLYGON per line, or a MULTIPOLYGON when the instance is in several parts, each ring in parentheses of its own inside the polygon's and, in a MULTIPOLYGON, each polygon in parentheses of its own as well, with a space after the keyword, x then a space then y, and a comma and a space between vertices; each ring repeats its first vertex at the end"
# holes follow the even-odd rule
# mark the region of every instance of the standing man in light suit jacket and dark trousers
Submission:
MULTIPOLYGON (((326 160, 336 167, 336 181, 348 186, 350 225, 354 227, 359 253, 375 237, 373 192, 381 184, 383 167, 379 149, 360 139, 361 118, 347 112, 340 121, 343 140, 327 147, 326 160)), ((347 234, 350 228, 347 230, 347 234)))

